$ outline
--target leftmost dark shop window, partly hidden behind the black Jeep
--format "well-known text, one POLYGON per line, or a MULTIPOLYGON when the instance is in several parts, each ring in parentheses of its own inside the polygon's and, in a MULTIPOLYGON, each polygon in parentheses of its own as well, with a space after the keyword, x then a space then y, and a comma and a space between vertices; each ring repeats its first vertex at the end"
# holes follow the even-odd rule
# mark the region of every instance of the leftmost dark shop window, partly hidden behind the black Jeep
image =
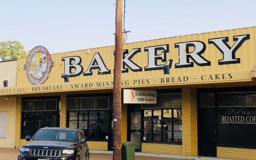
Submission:
POLYGON ((58 127, 57 99, 23 100, 21 138, 33 136, 43 127, 58 127))

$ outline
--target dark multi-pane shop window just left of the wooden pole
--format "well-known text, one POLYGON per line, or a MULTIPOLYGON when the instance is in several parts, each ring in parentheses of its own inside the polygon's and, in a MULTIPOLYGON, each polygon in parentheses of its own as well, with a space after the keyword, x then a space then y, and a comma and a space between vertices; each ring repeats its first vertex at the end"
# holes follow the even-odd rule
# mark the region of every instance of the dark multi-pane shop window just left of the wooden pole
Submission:
POLYGON ((68 127, 84 130, 89 139, 108 139, 110 114, 109 97, 68 98, 68 127))

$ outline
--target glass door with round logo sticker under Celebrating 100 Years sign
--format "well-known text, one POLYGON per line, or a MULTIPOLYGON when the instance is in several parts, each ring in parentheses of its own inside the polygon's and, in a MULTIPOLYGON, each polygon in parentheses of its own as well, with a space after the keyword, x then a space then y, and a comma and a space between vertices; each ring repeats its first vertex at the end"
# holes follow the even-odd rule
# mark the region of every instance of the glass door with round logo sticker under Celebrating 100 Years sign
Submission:
POLYGON ((141 151, 141 105, 128 106, 128 141, 135 142, 135 151, 141 151))

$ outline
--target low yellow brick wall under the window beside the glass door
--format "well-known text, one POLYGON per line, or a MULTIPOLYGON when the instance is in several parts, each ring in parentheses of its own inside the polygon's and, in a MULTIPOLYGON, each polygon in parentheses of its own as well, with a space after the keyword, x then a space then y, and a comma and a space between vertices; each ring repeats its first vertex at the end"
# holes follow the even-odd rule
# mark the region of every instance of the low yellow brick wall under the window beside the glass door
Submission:
POLYGON ((141 151, 148 153, 182 155, 182 145, 142 143, 141 151))

